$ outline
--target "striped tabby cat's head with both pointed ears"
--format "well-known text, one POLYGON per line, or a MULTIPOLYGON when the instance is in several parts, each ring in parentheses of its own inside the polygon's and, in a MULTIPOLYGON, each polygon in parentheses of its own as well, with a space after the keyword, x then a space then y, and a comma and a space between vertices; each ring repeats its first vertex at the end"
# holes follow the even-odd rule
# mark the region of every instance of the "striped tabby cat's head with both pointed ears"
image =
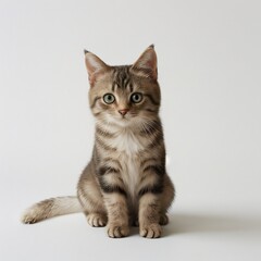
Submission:
POLYGON ((128 126, 158 116, 161 97, 153 46, 133 65, 110 66, 88 51, 85 62, 90 109, 98 121, 128 126))

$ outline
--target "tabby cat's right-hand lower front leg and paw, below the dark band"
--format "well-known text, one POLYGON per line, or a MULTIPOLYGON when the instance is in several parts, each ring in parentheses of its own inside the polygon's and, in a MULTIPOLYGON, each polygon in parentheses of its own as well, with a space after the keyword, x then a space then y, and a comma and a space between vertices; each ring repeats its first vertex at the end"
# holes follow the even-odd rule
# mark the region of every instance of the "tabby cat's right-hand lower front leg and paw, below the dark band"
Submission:
POLYGON ((139 234, 147 238, 161 236, 159 195, 147 192, 139 200, 139 234))

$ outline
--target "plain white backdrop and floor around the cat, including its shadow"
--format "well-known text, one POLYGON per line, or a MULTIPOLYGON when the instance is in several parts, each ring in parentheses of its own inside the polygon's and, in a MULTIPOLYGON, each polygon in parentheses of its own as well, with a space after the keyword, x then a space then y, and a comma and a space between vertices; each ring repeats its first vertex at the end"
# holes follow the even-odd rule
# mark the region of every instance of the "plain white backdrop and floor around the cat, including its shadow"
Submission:
POLYGON ((0 1, 0 260, 261 260, 257 0, 0 1), (151 44, 177 197, 161 239, 110 239, 83 214, 20 223, 75 195, 94 120, 83 49, 129 64, 151 44))

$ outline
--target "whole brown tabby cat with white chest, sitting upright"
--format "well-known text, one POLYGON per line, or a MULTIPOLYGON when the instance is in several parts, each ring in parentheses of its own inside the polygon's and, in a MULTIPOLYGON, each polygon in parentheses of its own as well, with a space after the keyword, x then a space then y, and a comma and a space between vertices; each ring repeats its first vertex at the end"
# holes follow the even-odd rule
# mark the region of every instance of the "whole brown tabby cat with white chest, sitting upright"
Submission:
POLYGON ((91 226, 107 225, 109 237, 129 235, 130 225, 139 226, 142 237, 160 237, 175 192, 165 171, 154 47, 133 65, 109 66, 89 51, 85 62, 96 141, 77 197, 38 202, 22 221, 84 212, 91 226))

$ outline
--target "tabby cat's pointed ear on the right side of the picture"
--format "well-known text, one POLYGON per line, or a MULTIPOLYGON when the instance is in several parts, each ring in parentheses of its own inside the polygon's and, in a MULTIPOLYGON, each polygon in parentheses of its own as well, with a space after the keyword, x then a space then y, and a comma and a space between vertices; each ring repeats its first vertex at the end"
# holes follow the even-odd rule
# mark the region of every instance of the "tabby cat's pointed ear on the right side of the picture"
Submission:
POLYGON ((154 80, 158 78, 157 54, 154 46, 149 46, 139 59, 133 64, 132 70, 138 75, 150 77, 154 80))

